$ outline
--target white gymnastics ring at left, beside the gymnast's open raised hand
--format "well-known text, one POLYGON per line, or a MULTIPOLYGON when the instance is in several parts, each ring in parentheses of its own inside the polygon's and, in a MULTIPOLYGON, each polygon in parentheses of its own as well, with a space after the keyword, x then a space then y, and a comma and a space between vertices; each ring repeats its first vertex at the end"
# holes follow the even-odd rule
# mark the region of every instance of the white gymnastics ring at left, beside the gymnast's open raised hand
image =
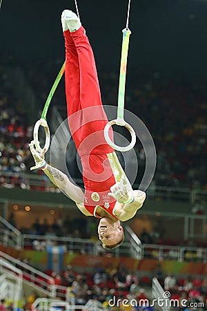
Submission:
POLYGON ((41 119, 39 119, 35 123, 33 135, 34 135, 34 144, 35 144, 37 151, 39 153, 43 153, 43 152, 48 151, 48 149, 50 147, 50 129, 48 127, 47 121, 44 120, 42 117, 41 117, 41 119), (41 149, 40 144, 39 144, 39 139, 38 139, 38 133, 39 133, 39 126, 40 125, 43 126, 43 128, 45 129, 45 133, 46 133, 46 142, 45 142, 43 149, 41 149))

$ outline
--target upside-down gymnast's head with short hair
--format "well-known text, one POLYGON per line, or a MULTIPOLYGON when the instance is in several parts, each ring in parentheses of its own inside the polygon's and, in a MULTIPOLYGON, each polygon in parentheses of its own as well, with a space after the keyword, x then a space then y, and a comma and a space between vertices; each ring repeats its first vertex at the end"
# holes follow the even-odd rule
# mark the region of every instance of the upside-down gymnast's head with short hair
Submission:
POLYGON ((116 248, 124 241, 124 229, 121 227, 120 221, 108 217, 100 219, 98 234, 99 240, 105 249, 116 248))

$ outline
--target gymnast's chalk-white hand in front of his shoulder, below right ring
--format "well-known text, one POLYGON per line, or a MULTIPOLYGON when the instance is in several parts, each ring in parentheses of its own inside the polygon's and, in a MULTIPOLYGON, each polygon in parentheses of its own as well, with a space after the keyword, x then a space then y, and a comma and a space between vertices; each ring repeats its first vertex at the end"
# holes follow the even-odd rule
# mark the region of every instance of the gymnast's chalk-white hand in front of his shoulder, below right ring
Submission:
POLYGON ((118 202, 123 204, 130 204, 134 201, 133 189, 126 176, 122 176, 120 182, 110 187, 109 196, 115 198, 118 202))

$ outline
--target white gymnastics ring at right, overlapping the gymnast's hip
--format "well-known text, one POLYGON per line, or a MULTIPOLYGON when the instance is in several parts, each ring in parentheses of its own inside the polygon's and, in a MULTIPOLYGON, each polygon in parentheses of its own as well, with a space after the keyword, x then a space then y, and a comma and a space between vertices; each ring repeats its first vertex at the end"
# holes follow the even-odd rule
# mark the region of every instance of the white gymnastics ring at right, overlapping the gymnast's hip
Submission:
POLYGON ((104 137, 106 139, 106 142, 108 142, 110 147, 112 147, 113 149, 115 149, 117 151, 121 151, 121 152, 129 151, 130 149, 132 149, 135 146, 135 143, 136 143, 135 130, 132 128, 132 126, 130 126, 130 124, 128 124, 124 120, 115 119, 115 120, 109 121, 103 130, 103 134, 104 134, 104 137), (109 134, 108 134, 109 128, 110 128, 110 126, 112 126, 114 124, 124 126, 130 132, 132 140, 131 140, 130 144, 128 144, 128 146, 126 146, 126 147, 117 146, 117 144, 112 142, 112 140, 110 139, 109 134))

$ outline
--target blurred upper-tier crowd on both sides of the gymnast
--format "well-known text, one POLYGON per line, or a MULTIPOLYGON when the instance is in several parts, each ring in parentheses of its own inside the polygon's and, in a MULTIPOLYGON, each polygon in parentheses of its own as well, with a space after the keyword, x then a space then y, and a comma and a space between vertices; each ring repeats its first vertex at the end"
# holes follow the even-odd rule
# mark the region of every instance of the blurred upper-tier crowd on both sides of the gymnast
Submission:
MULTIPOLYGON (((38 102, 44 104, 52 84, 51 77, 54 75, 55 79, 56 76, 52 62, 37 66, 24 64, 22 70, 38 102)), ((99 73, 103 104, 115 105, 117 102, 117 79, 113 73, 99 73)), ((32 139, 34 124, 28 124, 26 111, 23 111, 21 100, 14 95, 3 66, 0 68, 0 83, 0 171, 28 173, 32 164, 28 142, 32 139)), ((53 102, 62 110, 66 109, 64 92, 61 84, 53 102)), ((207 189, 206 97, 206 88, 202 84, 170 81, 158 74, 146 79, 139 79, 132 73, 128 75, 126 109, 144 122, 157 150, 157 168, 153 178, 155 187, 207 189)), ((139 160, 136 180, 139 182, 145 166, 144 150, 139 142, 135 145, 135 152, 139 160)), ((1 185, 15 186, 15 180, 10 185, 3 182, 1 177, 1 185)))

